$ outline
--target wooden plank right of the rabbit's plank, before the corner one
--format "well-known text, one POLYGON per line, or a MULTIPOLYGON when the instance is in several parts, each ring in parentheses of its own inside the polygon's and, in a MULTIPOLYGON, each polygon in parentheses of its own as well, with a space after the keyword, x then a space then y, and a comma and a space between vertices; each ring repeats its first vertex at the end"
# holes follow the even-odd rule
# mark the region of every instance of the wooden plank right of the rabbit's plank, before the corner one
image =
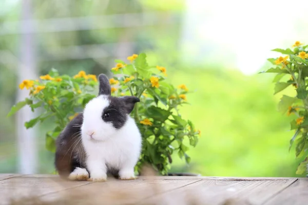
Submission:
POLYGON ((139 201, 139 204, 160 201, 170 204, 262 204, 297 179, 245 180, 203 179, 191 185, 139 201), (172 202, 172 203, 171 203, 172 202))

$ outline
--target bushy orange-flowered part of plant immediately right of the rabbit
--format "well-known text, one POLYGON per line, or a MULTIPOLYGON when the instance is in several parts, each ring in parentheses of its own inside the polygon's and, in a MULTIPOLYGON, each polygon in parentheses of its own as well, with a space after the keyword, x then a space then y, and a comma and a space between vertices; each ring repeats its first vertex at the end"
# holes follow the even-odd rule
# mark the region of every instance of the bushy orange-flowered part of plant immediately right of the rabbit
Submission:
POLYGON ((117 64, 111 68, 114 76, 109 80, 111 92, 116 96, 133 95, 140 98, 140 103, 135 105, 132 112, 143 137, 140 165, 152 163, 160 173, 165 174, 174 150, 186 162, 190 161, 183 137, 188 137, 193 147, 200 137, 200 130, 197 131, 191 121, 182 119, 177 109, 186 103, 188 88, 184 84, 175 88, 166 83, 167 69, 149 66, 144 53, 128 56, 127 60, 129 63, 115 60, 117 64), (169 146, 175 140, 179 147, 169 146))

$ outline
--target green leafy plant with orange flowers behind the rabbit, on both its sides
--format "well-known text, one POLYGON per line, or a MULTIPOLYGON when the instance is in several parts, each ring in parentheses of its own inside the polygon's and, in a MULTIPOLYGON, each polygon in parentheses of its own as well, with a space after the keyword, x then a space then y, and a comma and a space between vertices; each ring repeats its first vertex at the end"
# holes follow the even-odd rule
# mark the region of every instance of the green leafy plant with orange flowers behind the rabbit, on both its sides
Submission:
MULTIPOLYGON (((179 113, 179 106, 188 104, 185 85, 175 88, 166 83, 166 69, 160 66, 149 66, 146 55, 133 54, 127 57, 125 64, 115 60, 116 66, 111 69, 114 76, 109 79, 111 93, 114 96, 133 95, 141 99, 136 104, 131 116, 136 120, 143 137, 143 148, 136 166, 139 172, 144 163, 150 163, 161 174, 167 174, 171 155, 178 152, 180 158, 189 163, 186 154, 187 145, 183 139, 188 137, 189 144, 195 147, 200 131, 196 130, 190 120, 185 120, 179 113)), ((87 75, 80 71, 75 76, 60 75, 52 69, 40 80, 24 80, 21 89, 30 90, 29 97, 11 108, 8 116, 26 105, 32 111, 43 108, 38 117, 25 122, 26 128, 33 127, 38 121, 47 118, 54 120, 54 127, 46 133, 46 148, 55 152, 55 139, 77 112, 82 111, 89 100, 94 98, 94 89, 98 87, 97 76, 87 75)))

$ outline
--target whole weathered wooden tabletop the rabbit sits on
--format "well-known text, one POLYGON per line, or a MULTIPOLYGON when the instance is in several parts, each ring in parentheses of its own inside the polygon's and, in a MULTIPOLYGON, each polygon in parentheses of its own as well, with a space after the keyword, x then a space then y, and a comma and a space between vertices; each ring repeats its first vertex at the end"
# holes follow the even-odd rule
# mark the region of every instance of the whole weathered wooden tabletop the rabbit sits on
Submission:
POLYGON ((304 205, 308 178, 143 176, 90 182, 64 181, 57 175, 0 174, 0 204, 304 205))

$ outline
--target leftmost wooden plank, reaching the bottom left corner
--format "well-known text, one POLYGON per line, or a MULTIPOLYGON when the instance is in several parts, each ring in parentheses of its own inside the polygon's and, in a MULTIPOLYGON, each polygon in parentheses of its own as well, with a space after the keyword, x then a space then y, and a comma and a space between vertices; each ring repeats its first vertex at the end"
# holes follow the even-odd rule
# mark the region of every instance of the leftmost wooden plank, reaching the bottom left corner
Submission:
POLYGON ((64 181, 60 177, 13 177, 0 180, 0 202, 8 203, 12 198, 40 196, 70 188, 87 185, 89 181, 64 181))

